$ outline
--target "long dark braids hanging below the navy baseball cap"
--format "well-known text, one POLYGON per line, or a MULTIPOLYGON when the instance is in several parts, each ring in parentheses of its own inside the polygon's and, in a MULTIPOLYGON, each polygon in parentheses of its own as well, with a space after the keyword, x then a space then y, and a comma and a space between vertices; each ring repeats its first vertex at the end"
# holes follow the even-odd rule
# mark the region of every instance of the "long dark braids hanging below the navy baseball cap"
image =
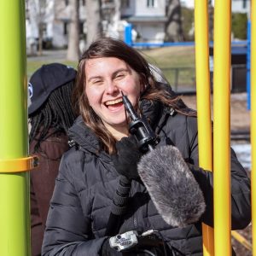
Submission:
POLYGON ((37 140, 34 153, 39 151, 40 143, 47 137, 58 132, 67 134, 67 130, 73 125, 76 118, 72 107, 73 86, 74 81, 71 81, 53 90, 41 108, 29 116, 29 142, 37 140), (49 128, 52 128, 50 134, 49 128))

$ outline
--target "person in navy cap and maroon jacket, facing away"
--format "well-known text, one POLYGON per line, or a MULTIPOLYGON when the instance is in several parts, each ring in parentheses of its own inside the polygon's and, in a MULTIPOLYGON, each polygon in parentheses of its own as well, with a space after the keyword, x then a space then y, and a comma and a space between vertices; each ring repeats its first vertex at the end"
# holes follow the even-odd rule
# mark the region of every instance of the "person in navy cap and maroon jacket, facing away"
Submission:
POLYGON ((76 74, 72 67, 51 63, 38 68, 28 84, 29 151, 39 160, 31 172, 32 256, 41 255, 55 177, 61 156, 69 148, 67 130, 76 118, 71 103, 76 74))

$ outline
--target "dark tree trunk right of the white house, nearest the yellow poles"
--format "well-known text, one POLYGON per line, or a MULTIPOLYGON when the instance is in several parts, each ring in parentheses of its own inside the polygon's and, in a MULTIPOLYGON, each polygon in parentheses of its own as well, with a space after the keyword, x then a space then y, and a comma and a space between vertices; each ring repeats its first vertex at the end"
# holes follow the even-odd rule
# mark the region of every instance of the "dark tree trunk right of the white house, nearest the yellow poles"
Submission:
POLYGON ((165 41, 183 41, 181 5, 179 0, 166 1, 166 38, 165 41))

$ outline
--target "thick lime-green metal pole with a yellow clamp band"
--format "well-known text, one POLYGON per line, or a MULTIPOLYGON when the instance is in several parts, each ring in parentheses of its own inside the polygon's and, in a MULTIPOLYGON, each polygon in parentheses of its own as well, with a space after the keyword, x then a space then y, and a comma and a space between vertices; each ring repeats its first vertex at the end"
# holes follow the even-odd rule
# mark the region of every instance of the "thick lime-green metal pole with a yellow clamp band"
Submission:
POLYGON ((29 172, 9 170, 28 154, 25 24, 25 0, 0 0, 1 256, 31 254, 29 172))

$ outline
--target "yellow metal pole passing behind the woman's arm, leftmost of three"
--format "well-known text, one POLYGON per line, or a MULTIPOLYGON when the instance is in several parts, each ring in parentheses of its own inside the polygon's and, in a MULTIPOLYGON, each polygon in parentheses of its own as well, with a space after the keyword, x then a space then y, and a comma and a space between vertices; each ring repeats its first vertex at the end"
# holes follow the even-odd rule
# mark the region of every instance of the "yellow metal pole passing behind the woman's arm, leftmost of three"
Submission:
MULTIPOLYGON (((195 0, 195 72, 199 165, 212 171, 211 90, 208 43, 208 1, 195 0)), ((213 229, 202 224, 203 254, 214 255, 213 229)))

